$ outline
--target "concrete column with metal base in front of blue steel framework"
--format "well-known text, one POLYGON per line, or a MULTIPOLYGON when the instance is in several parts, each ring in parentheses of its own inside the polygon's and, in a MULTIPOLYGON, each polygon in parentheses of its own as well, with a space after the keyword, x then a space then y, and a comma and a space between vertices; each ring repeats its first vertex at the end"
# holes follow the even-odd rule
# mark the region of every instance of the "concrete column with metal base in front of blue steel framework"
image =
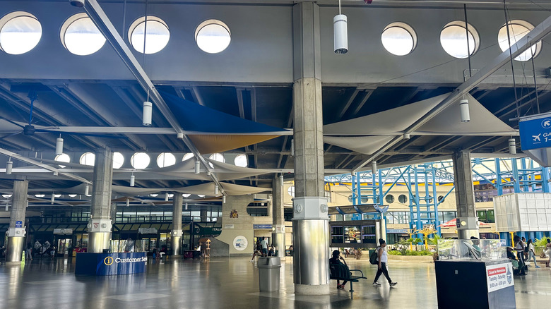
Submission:
POLYGON ((454 183, 456 185, 457 229, 459 239, 478 237, 478 216, 475 208, 475 188, 473 170, 470 166, 470 152, 456 151, 454 160, 454 183))

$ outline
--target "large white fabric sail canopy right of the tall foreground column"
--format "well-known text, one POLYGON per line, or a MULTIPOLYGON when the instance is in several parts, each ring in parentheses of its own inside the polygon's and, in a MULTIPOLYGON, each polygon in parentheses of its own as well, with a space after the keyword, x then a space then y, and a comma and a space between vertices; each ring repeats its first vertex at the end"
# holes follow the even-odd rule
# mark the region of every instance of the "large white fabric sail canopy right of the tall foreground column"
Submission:
MULTIPOLYGON (((331 123, 324 126, 324 143, 373 154, 389 143, 393 136, 402 135, 406 128, 448 96, 439 95, 396 109, 331 123), (400 119, 396 119, 397 115, 401 116, 400 119)), ((467 93, 465 98, 469 101, 469 122, 461 122, 458 99, 410 135, 518 135, 514 128, 494 116, 473 96, 467 93)))

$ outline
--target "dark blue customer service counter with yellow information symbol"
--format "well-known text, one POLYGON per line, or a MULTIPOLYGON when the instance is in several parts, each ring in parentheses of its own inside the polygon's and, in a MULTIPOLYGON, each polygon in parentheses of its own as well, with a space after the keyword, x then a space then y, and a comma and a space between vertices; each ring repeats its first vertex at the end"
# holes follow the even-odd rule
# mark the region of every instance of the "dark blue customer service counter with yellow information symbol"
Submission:
POLYGON ((109 276, 146 272, 145 252, 77 253, 75 274, 109 276))

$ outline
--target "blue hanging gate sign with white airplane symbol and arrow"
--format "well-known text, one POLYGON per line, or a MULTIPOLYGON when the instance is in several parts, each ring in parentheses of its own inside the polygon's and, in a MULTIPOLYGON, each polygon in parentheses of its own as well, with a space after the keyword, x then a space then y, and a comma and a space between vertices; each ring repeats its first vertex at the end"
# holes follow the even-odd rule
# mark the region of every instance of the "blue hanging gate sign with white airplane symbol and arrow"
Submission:
POLYGON ((522 150, 551 147, 551 113, 521 117, 519 133, 522 150))

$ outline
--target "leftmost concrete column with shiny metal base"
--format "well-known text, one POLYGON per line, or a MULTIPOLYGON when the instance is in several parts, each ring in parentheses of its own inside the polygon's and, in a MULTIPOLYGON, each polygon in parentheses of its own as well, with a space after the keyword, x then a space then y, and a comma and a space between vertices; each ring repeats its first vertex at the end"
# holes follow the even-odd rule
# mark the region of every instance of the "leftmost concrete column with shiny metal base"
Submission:
POLYGON ((28 188, 29 181, 13 181, 6 265, 20 264, 21 255, 25 250, 25 226, 23 224, 25 224, 25 213, 27 212, 28 188))

